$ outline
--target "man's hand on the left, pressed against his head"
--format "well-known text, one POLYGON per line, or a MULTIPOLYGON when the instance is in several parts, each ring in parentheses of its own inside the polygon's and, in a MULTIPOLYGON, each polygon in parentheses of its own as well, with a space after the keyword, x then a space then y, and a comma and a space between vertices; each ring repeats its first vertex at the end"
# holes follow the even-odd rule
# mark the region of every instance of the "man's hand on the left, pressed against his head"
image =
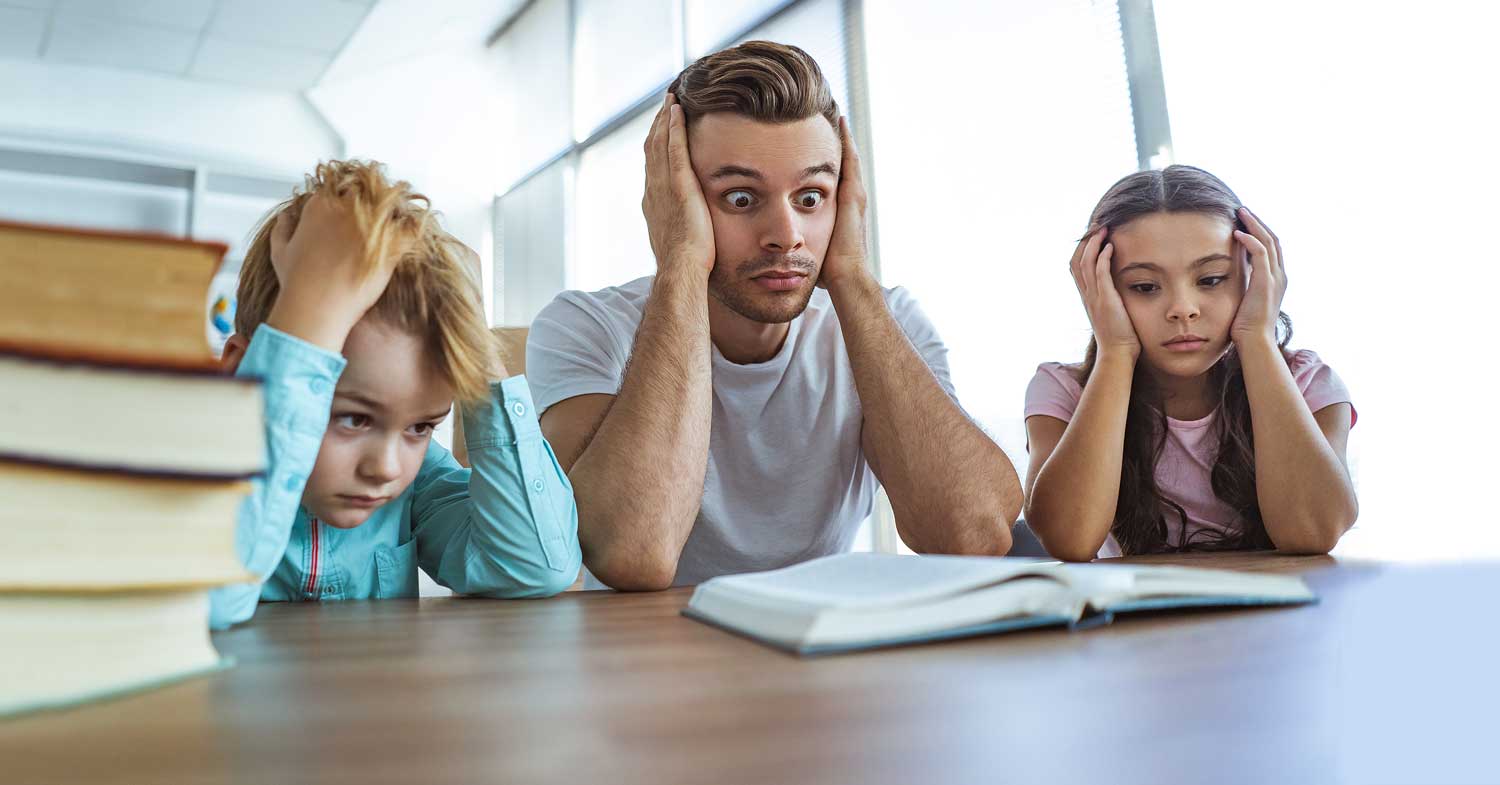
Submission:
POLYGON ((657 272, 714 269, 714 224, 687 152, 687 122, 676 96, 666 95, 646 135, 646 216, 657 272))

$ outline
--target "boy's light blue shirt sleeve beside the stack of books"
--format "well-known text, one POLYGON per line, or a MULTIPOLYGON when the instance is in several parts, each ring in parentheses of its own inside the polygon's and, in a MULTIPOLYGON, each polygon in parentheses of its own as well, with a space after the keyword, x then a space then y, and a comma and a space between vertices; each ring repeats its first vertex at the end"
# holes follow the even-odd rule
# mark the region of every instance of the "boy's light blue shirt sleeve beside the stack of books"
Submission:
POLYGON ((267 470, 250 480, 250 495, 240 504, 234 548, 256 582, 214 588, 208 596, 210 627, 250 618, 261 584, 286 552, 344 365, 344 357, 268 324, 250 338, 236 375, 260 377, 266 387, 267 470))

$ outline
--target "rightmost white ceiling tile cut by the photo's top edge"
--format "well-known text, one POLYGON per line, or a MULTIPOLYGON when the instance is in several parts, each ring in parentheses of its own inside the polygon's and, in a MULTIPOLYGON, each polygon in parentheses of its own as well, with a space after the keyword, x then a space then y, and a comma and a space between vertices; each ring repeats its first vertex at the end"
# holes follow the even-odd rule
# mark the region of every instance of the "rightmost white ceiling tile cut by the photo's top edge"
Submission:
POLYGON ((224 0, 208 24, 216 38, 336 54, 368 8, 344 0, 224 0))

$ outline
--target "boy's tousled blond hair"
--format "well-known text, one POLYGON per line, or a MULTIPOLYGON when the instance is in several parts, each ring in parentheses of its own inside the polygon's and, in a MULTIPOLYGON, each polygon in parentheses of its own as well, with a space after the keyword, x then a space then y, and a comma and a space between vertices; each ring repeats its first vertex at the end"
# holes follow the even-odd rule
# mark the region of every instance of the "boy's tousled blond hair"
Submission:
POLYGON ((270 315, 280 291, 272 267, 272 230, 278 219, 296 227, 316 192, 352 207, 366 237, 368 264, 406 243, 390 284, 369 312, 423 338, 459 401, 488 399, 489 381, 498 377, 500 350, 484 323, 478 257, 438 225, 428 197, 405 180, 392 183, 374 161, 318 164, 303 188, 261 221, 240 269, 234 330, 250 336, 270 315))

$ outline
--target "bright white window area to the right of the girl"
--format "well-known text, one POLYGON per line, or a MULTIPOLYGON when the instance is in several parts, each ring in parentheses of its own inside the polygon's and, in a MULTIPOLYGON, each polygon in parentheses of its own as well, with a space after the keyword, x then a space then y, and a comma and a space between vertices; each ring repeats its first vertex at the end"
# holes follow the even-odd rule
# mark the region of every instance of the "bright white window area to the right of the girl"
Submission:
POLYGON ((1294 347, 1350 387, 1362 515, 1336 552, 1500 555, 1490 101, 1500 11, 1156 0, 1173 158, 1281 236, 1294 347), (1458 425, 1461 423, 1461 425, 1458 425))

